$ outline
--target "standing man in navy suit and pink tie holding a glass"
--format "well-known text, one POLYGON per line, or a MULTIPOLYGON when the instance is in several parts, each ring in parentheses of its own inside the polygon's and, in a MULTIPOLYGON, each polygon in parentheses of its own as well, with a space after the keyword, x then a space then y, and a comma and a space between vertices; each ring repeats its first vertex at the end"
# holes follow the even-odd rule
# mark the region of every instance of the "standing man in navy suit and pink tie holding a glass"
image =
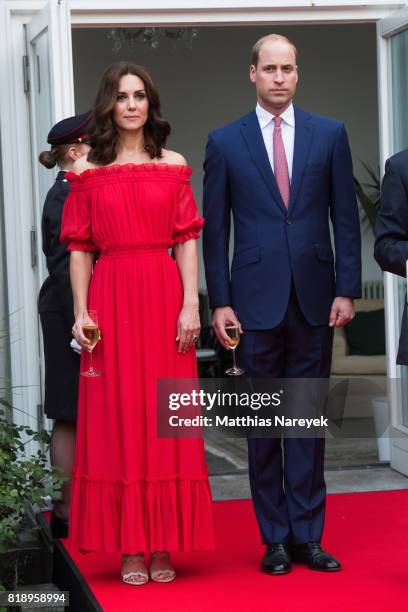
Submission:
MULTIPOLYGON (((249 377, 329 377, 333 327, 353 318, 353 298, 361 297, 346 131, 340 121, 293 106, 296 49, 285 37, 254 45, 250 79, 256 109, 213 131, 206 150, 204 262, 213 327, 228 348, 225 326, 240 326, 238 363, 249 377)), ((261 569, 284 574, 293 561, 339 570, 320 545, 324 439, 248 438, 248 455, 267 545, 261 569)))

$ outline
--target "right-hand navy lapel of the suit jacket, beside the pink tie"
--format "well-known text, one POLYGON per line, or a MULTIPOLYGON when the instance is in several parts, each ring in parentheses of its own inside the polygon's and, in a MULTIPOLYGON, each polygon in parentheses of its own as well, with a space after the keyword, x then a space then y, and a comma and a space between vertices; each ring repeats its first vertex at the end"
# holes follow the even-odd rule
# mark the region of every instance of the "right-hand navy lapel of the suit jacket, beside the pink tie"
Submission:
POLYGON ((295 146, 293 151, 289 213, 292 211, 299 193, 303 172, 309 156, 310 145, 313 140, 313 132, 314 125, 310 115, 295 107, 295 146))

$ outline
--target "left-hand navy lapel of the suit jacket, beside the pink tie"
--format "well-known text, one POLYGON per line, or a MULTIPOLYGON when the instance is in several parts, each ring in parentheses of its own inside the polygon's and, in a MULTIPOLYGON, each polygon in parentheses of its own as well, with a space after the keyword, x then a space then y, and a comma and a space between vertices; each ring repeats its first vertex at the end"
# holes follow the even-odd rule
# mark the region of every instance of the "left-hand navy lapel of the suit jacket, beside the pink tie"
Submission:
MULTIPOLYGON (((247 144, 252 160, 261 173, 269 191, 279 208, 286 214, 286 207, 276 184, 275 176, 272 172, 268 153, 262 137, 256 112, 252 111, 243 118, 241 123, 241 134, 247 144)), ((295 145, 296 146, 296 145, 295 145)))

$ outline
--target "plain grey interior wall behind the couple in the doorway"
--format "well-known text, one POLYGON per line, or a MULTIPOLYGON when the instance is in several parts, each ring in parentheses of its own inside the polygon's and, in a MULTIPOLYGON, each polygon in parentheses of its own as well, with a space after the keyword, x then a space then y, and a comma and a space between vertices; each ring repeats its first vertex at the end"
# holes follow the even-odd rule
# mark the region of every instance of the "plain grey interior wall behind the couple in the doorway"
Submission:
MULTIPOLYGON (((145 65, 161 94, 162 111, 172 125, 169 146, 193 167, 193 187, 201 206, 202 162, 207 134, 254 106, 248 79, 252 44, 264 34, 288 36, 298 48, 300 79, 296 104, 346 123, 356 175, 365 180, 360 160, 379 164, 375 25, 301 25, 274 28, 201 28, 191 50, 162 40, 153 51, 112 52, 109 30, 73 30, 77 112, 93 103, 106 66, 117 60, 145 65)), ((381 278, 371 233, 363 236, 363 278, 381 278)), ((204 286, 201 263, 200 284, 204 286)))

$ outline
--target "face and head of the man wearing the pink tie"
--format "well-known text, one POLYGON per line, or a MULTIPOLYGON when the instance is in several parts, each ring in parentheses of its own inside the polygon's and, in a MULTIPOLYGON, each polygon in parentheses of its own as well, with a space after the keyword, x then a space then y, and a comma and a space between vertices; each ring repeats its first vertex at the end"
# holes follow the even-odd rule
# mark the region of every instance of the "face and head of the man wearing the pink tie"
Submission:
POLYGON ((298 72, 295 52, 285 41, 266 41, 260 51, 258 65, 251 66, 249 77, 255 83, 261 106, 280 114, 290 105, 296 91, 298 72))

